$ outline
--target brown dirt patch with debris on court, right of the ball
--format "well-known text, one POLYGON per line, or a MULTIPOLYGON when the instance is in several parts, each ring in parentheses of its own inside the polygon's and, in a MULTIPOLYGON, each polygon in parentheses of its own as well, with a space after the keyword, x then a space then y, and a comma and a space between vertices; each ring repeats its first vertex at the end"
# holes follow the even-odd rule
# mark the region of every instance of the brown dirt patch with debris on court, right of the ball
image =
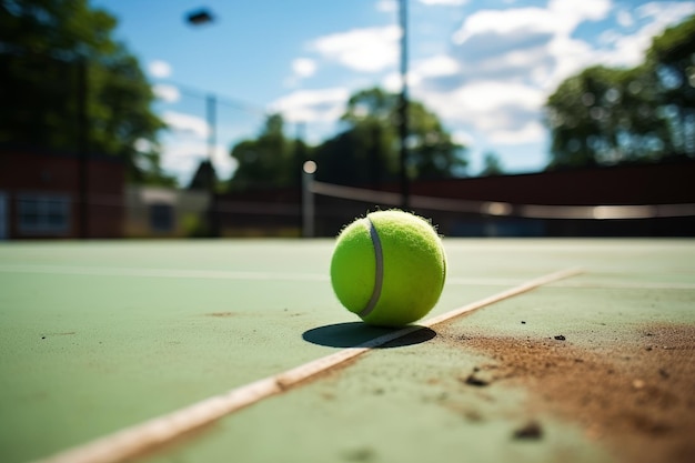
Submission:
MULTIPOLYGON (((547 338, 456 334, 450 341, 492 360, 465 373, 460 381, 466 385, 523 386, 531 391, 532 415, 578 423, 621 461, 693 462, 695 326, 651 325, 634 339, 610 351, 547 338)), ((537 430, 522 426, 514 437, 538 439, 541 423, 530 423, 537 430)))

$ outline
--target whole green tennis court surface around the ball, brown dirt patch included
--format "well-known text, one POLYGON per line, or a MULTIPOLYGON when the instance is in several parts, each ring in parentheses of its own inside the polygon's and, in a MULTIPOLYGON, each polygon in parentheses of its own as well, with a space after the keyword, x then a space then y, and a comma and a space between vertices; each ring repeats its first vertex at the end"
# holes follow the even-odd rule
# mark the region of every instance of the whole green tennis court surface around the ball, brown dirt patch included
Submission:
MULTIPOLYGON (((449 278, 430 318, 582 272, 369 350, 132 460, 695 461, 695 241, 444 244, 449 278)), ((339 305, 332 246, 1 245, 0 460, 114 445, 113 433, 389 333, 339 305)))

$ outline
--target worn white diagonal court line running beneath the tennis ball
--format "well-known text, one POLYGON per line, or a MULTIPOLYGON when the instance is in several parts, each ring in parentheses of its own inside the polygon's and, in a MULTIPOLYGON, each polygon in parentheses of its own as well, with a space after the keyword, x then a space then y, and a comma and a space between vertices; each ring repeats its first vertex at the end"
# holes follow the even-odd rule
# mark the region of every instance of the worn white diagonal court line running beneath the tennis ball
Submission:
POLYGON ((535 288, 581 273, 580 269, 566 269, 531 280, 506 291, 485 298, 469 305, 454 309, 442 315, 427 319, 417 325, 405 326, 355 348, 344 349, 334 354, 314 360, 274 376, 232 389, 223 394, 205 399, 184 409, 154 417, 141 424, 125 427, 42 460, 43 463, 118 463, 137 457, 174 439, 211 424, 225 415, 246 407, 263 399, 279 394, 308 379, 335 368, 374 348, 387 344, 410 333, 431 328, 464 313, 484 308, 535 288))

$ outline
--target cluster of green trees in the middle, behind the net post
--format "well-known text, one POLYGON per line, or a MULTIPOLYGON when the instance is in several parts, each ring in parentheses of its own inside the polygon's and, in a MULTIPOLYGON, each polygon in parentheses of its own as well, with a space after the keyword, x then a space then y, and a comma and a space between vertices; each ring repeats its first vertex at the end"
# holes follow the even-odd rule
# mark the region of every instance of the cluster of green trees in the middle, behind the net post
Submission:
MULTIPOLYGON (((374 88, 350 98, 341 120, 346 130, 310 148, 284 135, 279 114, 269 117, 255 139, 232 148, 238 168, 230 189, 293 187, 304 160, 319 164, 316 178, 342 184, 379 187, 399 177, 396 94, 374 88)), ((466 165, 463 147, 455 143, 439 118, 422 103, 409 104, 409 174, 411 178, 450 178, 466 165)))

